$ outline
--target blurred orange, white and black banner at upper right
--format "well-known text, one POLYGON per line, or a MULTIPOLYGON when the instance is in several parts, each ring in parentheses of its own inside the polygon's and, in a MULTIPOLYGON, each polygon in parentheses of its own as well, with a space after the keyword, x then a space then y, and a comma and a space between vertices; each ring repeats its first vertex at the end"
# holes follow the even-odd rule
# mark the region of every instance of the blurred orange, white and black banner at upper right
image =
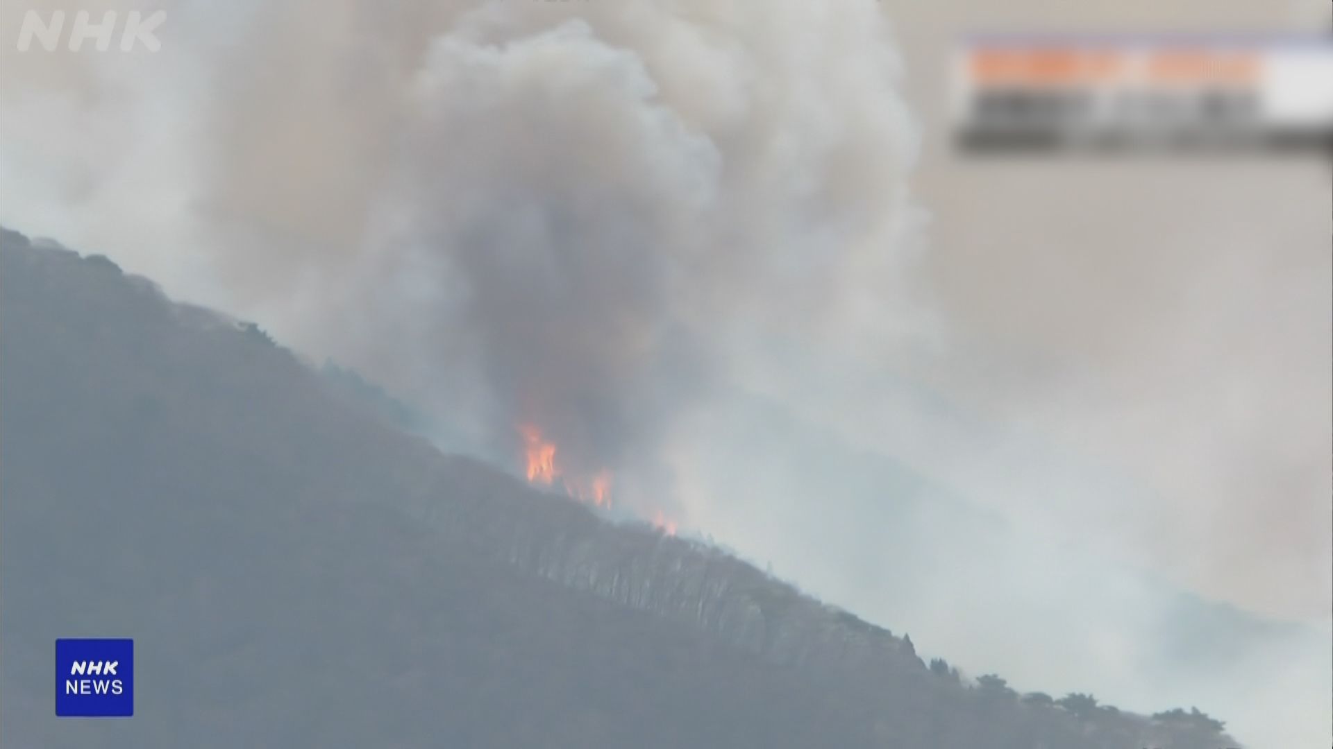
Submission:
POLYGON ((966 152, 1333 148, 1333 37, 974 35, 950 112, 966 152))

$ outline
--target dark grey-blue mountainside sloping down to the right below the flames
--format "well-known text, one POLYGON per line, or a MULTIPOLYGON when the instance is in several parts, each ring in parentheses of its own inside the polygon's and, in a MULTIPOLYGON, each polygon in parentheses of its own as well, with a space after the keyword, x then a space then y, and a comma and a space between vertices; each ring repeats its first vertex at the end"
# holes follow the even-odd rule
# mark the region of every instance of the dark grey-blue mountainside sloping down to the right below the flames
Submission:
POLYGON ((718 550, 440 454, 253 325, 0 245, 4 746, 1233 745, 965 686, 718 550), (136 640, 135 718, 53 717, 77 636, 136 640))

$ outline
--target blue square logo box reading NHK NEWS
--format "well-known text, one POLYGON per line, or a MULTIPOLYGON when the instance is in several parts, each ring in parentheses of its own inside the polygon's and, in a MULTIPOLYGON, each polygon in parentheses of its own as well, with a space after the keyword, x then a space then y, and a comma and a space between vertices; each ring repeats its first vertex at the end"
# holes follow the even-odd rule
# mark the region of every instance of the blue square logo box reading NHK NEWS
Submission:
POLYGON ((56 640, 56 717, 133 714, 133 640, 56 640))

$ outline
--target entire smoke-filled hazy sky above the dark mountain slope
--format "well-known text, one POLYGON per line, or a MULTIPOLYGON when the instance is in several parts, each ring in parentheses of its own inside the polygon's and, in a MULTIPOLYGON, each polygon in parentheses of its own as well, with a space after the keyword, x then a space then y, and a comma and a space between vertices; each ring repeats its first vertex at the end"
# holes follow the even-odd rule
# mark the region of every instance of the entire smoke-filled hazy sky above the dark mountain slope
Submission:
POLYGON ((966 31, 1308 29, 1326 4, 177 1, 161 52, 20 55, 33 7, 137 5, 0 11, 5 225, 337 357, 475 452, 539 421, 628 505, 974 672, 1330 738, 1326 648, 1221 685, 1132 657, 1181 636, 1158 585, 1329 628, 1328 167, 974 163, 941 112, 966 31), (886 570, 893 513, 802 440, 1026 536, 969 554, 990 537, 929 510, 957 558, 886 570))

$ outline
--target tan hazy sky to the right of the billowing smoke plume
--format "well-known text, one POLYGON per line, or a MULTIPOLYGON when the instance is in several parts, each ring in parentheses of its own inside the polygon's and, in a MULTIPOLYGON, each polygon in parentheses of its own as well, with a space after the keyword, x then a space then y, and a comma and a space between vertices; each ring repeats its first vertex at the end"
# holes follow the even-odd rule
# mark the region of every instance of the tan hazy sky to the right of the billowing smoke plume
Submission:
MULTIPOLYGON (((966 29, 1317 29, 1322 3, 889 4, 914 111, 966 29), (965 8, 965 9, 962 9, 965 8)), ((1188 584, 1328 617, 1330 188, 1316 159, 1006 160, 928 144, 950 392, 1145 485, 1085 517, 1188 584), (966 393, 965 396, 962 393, 966 393)), ((1080 513, 1086 508, 1078 508, 1080 513)))

